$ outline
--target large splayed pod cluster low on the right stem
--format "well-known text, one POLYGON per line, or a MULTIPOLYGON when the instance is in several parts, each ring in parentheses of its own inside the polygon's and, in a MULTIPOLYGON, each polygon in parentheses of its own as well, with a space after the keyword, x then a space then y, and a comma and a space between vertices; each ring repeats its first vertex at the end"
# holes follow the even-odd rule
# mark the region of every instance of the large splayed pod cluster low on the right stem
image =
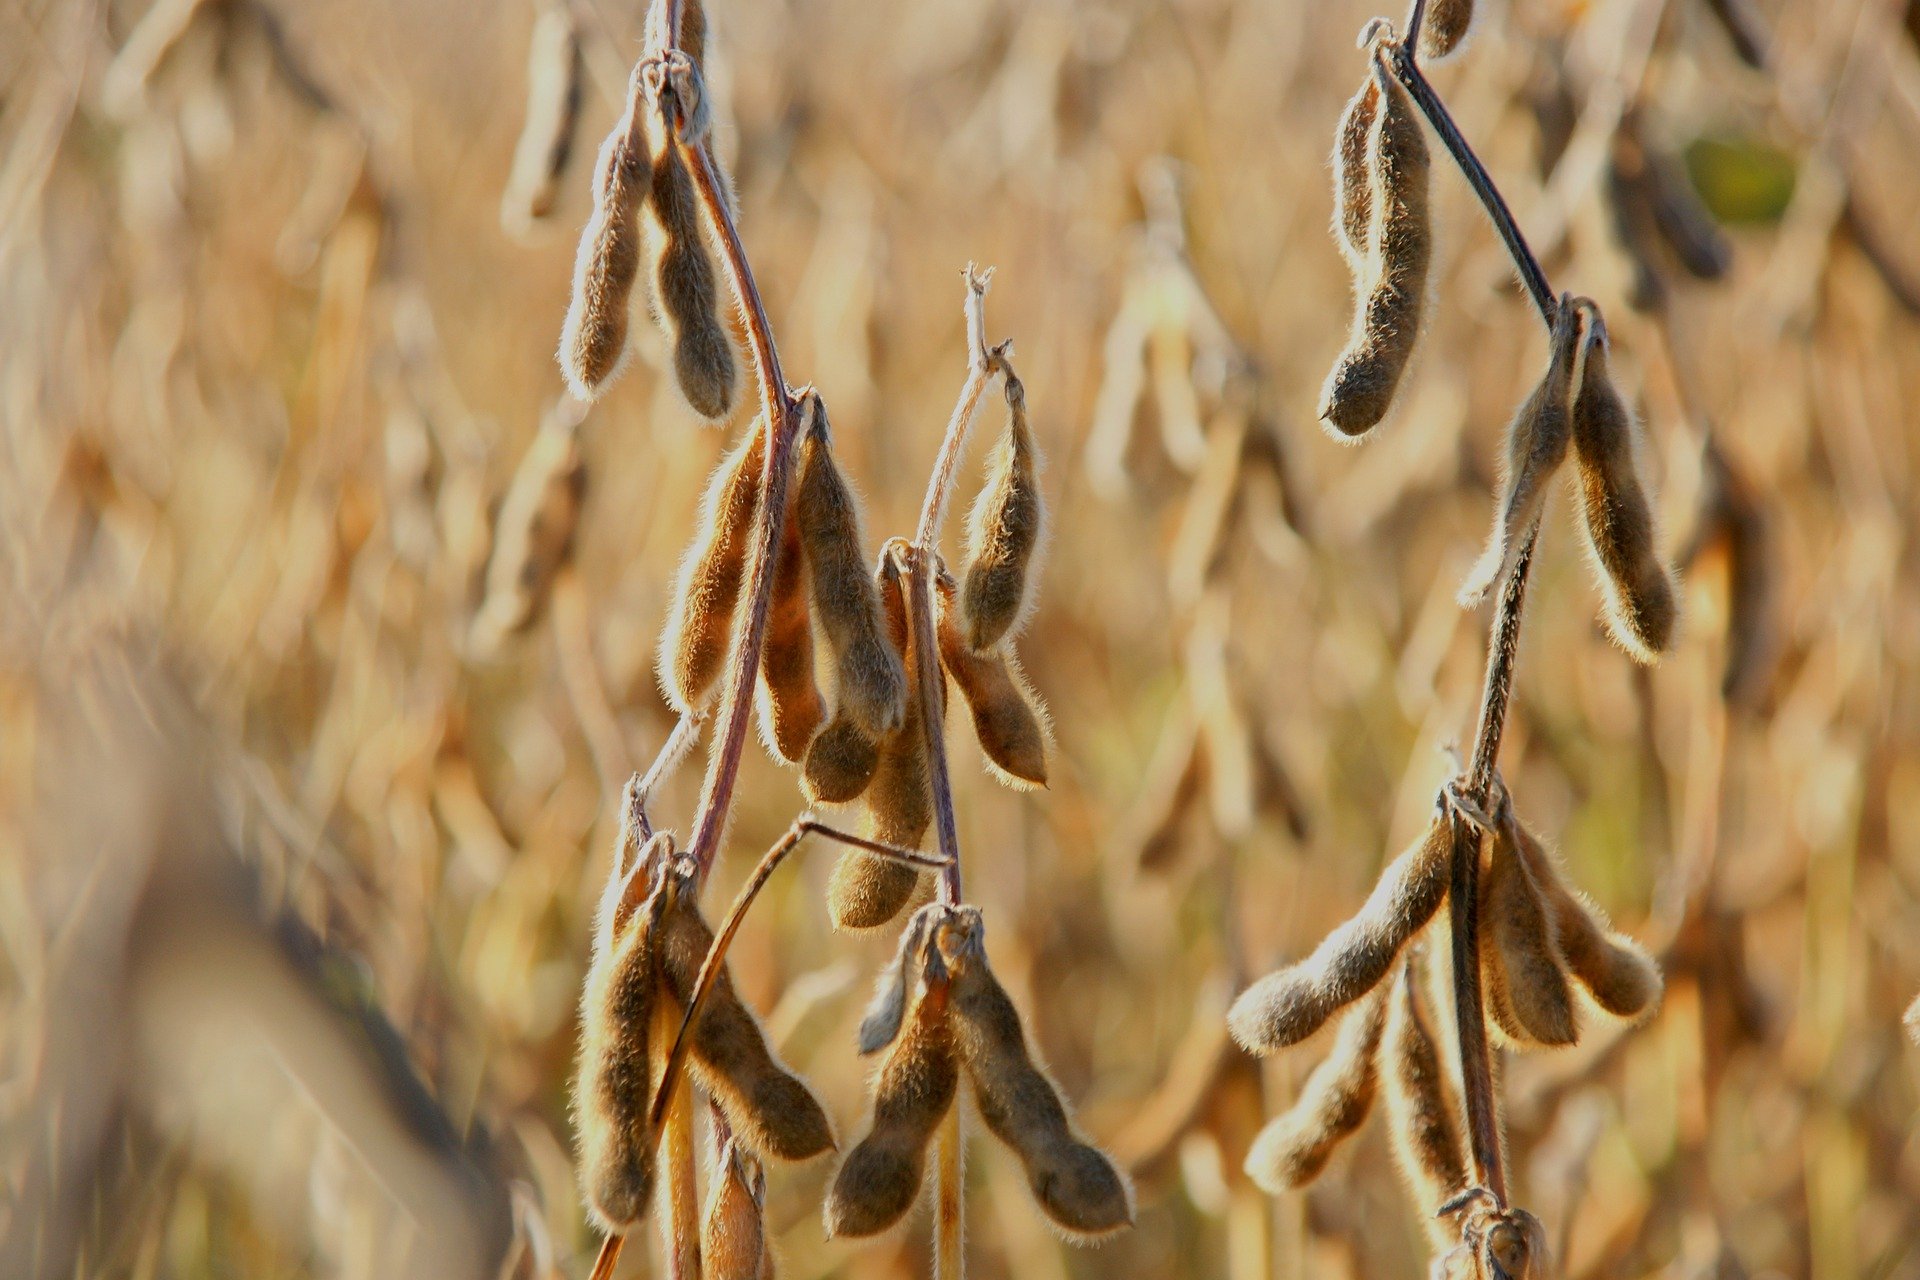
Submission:
MULTIPOLYGON (((1229 1013, 1256 1054, 1298 1044, 1338 1017, 1340 1029, 1294 1103, 1256 1138, 1246 1171, 1267 1192, 1302 1188, 1365 1123, 1384 1092, 1394 1150, 1427 1211, 1467 1190, 1457 1092, 1425 990, 1419 938, 1448 896, 1461 818, 1444 791, 1427 831, 1380 873, 1365 906, 1306 960, 1254 983, 1229 1013), (1396 981, 1388 981, 1398 971, 1396 981)), ((1582 1006, 1645 1017, 1661 973, 1636 942, 1574 892, 1501 793, 1490 829, 1469 825, 1480 858, 1480 988, 1498 1036, 1513 1048, 1580 1038, 1582 1006)), ((1457 1238, 1450 1224, 1436 1242, 1457 1238)))

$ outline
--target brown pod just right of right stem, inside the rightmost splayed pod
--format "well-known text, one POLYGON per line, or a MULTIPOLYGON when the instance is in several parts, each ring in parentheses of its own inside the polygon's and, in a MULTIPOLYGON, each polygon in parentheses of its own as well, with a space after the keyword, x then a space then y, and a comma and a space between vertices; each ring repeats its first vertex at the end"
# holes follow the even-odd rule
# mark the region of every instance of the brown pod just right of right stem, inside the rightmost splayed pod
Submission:
POLYGON ((1580 1040, 1580 1019, 1559 950, 1559 921, 1521 858, 1513 827, 1507 816, 1500 837, 1482 841, 1488 854, 1480 871, 1486 1004, 1515 1044, 1563 1048, 1580 1040))

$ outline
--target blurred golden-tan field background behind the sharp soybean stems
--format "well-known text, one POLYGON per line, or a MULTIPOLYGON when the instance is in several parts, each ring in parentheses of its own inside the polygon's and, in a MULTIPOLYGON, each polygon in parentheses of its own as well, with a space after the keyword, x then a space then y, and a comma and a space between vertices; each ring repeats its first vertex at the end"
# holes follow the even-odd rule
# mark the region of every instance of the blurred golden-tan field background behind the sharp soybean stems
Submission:
MULTIPOLYGON (((1555 288, 1607 313, 1688 608, 1634 668, 1553 499, 1505 777, 1668 990, 1645 1027, 1507 1061, 1521 1203, 1567 1276, 1920 1276, 1920 6, 1480 10, 1432 81, 1555 288)), ((1350 317, 1325 157, 1373 13, 710 4, 743 236, 870 539, 918 510, 970 259, 1048 453, 1020 652, 1052 787, 1000 789, 954 727, 960 833, 1139 1222, 1062 1244, 981 1134, 981 1276, 1425 1268, 1380 1125, 1306 1194, 1246 1182, 1323 1044, 1256 1063, 1221 1027, 1357 906, 1471 735, 1486 618, 1452 597, 1544 363, 1436 163, 1402 403, 1359 449, 1313 422, 1350 317)), ((589 915, 737 430, 695 424, 645 322, 612 393, 561 403, 641 17, 0 10, 0 1274, 586 1274, 589 915), (578 533, 488 612, 543 420, 578 441, 578 533)), ((685 831, 697 773, 657 821, 685 831)), ((801 808, 758 748, 743 791, 714 902, 801 808)), ((828 869, 783 871, 732 956, 852 1134, 893 938, 831 933, 828 869)), ((781 1272, 925 1274, 924 1211, 822 1242, 829 1163, 772 1171, 781 1272)))

